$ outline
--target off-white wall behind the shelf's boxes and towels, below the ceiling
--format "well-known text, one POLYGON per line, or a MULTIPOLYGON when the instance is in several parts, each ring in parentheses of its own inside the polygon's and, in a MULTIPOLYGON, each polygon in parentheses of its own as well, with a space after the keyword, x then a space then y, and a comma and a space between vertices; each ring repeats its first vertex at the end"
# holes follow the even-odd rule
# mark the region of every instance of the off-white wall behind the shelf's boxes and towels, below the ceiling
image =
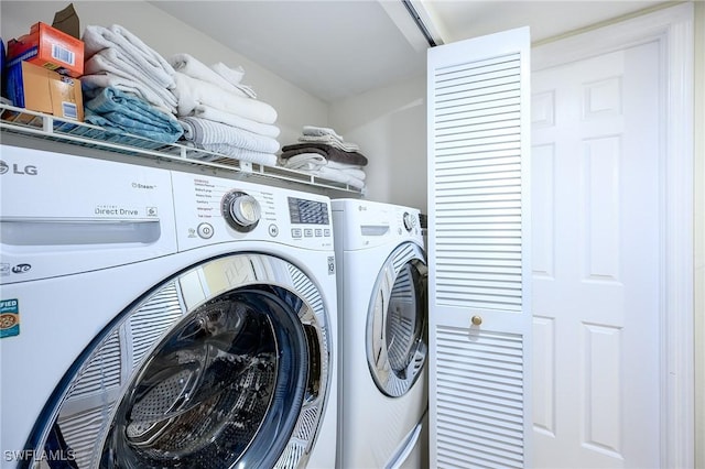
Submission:
MULTIPOLYGON (((3 41, 26 34, 37 21, 51 24, 54 13, 69 1, 0 1, 0 32, 3 41)), ((282 129, 279 142, 295 143, 304 124, 323 124, 328 120, 326 102, 296 88, 289 81, 245 56, 225 47, 204 33, 184 24, 145 1, 73 1, 86 25, 120 24, 164 57, 188 53, 205 64, 223 62, 245 68, 243 83, 252 86, 258 99, 276 109, 276 126, 282 129)))

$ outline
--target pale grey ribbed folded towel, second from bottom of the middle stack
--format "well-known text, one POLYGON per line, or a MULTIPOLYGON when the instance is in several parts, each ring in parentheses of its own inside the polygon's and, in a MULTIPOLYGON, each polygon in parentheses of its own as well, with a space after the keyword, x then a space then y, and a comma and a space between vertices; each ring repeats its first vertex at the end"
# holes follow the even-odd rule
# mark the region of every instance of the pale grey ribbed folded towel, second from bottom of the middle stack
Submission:
POLYGON ((183 117, 178 121, 184 128, 184 139, 191 140, 196 144, 225 143, 262 153, 275 153, 279 151, 279 142, 271 137, 260 135, 207 119, 183 117))

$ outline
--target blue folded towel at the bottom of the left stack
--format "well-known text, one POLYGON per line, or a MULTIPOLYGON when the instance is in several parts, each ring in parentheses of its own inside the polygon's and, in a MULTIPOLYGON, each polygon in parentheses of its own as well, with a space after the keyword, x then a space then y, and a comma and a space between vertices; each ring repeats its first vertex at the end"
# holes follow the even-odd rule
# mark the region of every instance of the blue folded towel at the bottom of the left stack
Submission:
POLYGON ((176 117, 117 88, 100 88, 85 103, 85 121, 111 133, 131 133, 162 143, 174 143, 184 133, 176 117))

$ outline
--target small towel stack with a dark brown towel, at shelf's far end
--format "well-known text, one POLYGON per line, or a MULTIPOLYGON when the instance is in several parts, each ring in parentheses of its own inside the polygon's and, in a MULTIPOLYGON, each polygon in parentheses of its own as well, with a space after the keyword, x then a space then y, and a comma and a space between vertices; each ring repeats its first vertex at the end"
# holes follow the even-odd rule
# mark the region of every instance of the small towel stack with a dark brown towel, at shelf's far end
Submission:
POLYGON ((346 142, 333 129, 315 126, 304 126, 299 142, 282 146, 282 166, 365 188, 367 157, 358 145, 346 142))

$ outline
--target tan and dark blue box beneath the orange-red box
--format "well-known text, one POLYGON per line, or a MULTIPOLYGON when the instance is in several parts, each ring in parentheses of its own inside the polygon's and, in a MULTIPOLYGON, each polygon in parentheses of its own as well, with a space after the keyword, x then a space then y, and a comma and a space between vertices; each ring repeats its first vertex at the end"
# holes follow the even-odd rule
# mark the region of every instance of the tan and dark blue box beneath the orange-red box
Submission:
POLYGON ((20 61, 8 67, 8 97, 18 108, 84 120, 80 79, 20 61))

